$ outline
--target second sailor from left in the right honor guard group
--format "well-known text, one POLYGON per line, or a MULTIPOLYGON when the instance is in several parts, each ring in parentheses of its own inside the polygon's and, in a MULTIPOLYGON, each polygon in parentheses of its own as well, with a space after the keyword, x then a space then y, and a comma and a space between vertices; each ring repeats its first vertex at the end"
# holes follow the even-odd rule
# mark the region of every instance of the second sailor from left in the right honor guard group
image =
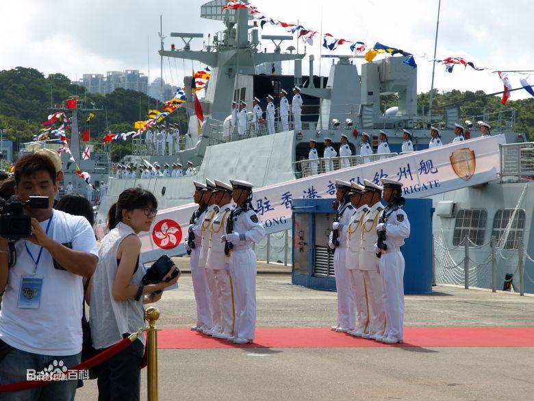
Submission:
POLYGON ((364 186, 351 182, 351 187, 351 204, 353 205, 354 213, 348 225, 344 228, 346 231, 345 268, 355 300, 356 321, 354 329, 349 330, 348 334, 361 337, 367 328, 368 307, 364 274, 358 269, 358 263, 361 251, 361 223, 369 210, 369 206, 363 202, 364 186))

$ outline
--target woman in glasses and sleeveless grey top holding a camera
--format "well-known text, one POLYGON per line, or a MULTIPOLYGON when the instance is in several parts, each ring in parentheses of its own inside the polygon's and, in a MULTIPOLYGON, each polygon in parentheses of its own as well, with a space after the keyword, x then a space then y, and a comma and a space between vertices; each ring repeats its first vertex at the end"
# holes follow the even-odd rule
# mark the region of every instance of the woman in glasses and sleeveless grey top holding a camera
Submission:
MULTIPOLYGON (((143 304, 160 300, 161 291, 179 278, 179 270, 168 261, 164 261, 166 274, 159 279, 153 279, 161 274, 153 271, 159 260, 144 274, 138 234, 150 230, 156 214, 155 196, 141 188, 120 193, 108 212, 110 232, 101 241, 91 284, 90 326, 96 350, 109 348, 144 327, 143 304)), ((139 400, 143 352, 140 337, 99 365, 99 400, 139 400)))

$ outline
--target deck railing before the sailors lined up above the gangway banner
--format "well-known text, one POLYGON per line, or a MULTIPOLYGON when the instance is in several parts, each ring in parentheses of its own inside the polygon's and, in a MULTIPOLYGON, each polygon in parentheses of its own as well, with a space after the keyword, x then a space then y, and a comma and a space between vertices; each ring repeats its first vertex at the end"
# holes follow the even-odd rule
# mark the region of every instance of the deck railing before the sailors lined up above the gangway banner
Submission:
POLYGON ((305 178, 310 175, 318 175, 346 169, 365 163, 374 162, 375 160, 384 160, 398 156, 396 153, 372 154, 368 156, 337 156, 334 158, 304 159, 293 162, 294 173, 296 178, 305 178))

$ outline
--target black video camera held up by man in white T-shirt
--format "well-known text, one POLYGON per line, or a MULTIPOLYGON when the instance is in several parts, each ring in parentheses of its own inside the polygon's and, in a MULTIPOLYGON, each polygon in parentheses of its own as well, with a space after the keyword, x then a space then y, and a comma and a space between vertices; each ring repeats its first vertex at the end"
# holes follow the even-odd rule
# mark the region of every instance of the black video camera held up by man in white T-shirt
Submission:
POLYGON ((31 217, 24 213, 24 208, 47 209, 47 196, 30 196, 22 201, 15 196, 7 201, 0 197, 0 236, 10 241, 31 236, 31 217))

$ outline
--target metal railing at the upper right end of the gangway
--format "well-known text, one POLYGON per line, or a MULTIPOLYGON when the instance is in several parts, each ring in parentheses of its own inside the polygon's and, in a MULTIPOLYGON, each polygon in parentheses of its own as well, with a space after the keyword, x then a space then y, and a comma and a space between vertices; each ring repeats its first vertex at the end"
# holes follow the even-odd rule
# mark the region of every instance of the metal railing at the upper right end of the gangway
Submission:
POLYGON ((534 176, 534 143, 500 145, 500 176, 534 176))

